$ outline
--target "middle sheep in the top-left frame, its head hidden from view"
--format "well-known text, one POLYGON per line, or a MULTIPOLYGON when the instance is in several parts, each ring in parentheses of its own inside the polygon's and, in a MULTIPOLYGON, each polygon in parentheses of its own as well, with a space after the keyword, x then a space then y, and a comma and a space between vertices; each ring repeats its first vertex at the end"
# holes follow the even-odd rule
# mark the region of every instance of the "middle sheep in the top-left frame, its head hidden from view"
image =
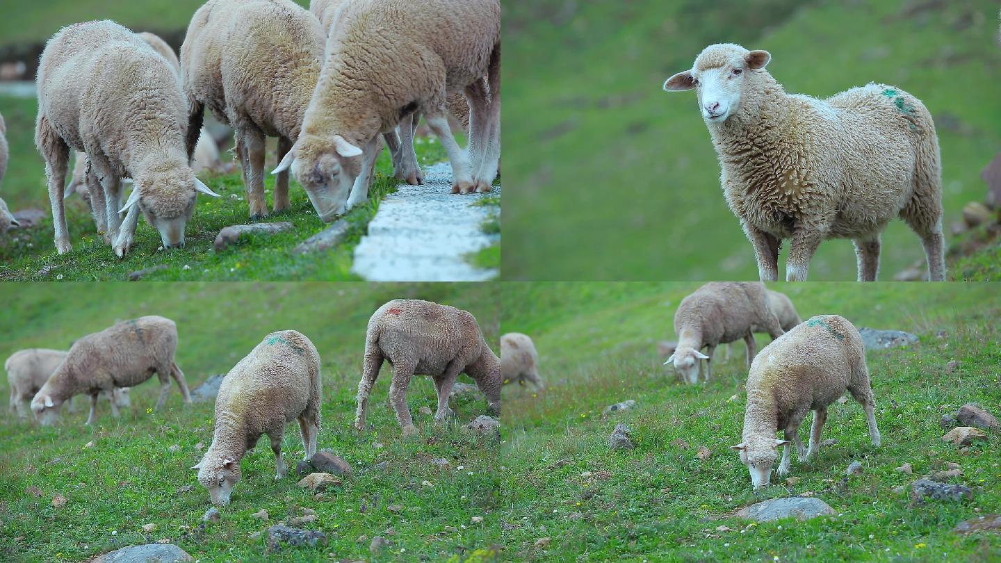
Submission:
MULTIPOLYGON (((209 0, 191 18, 181 45, 188 150, 207 105, 235 129, 251 218, 267 215, 265 136, 278 137, 279 159, 298 138, 323 40, 319 21, 291 0, 209 0)), ((273 209, 289 206, 286 172, 277 177, 273 209)))

